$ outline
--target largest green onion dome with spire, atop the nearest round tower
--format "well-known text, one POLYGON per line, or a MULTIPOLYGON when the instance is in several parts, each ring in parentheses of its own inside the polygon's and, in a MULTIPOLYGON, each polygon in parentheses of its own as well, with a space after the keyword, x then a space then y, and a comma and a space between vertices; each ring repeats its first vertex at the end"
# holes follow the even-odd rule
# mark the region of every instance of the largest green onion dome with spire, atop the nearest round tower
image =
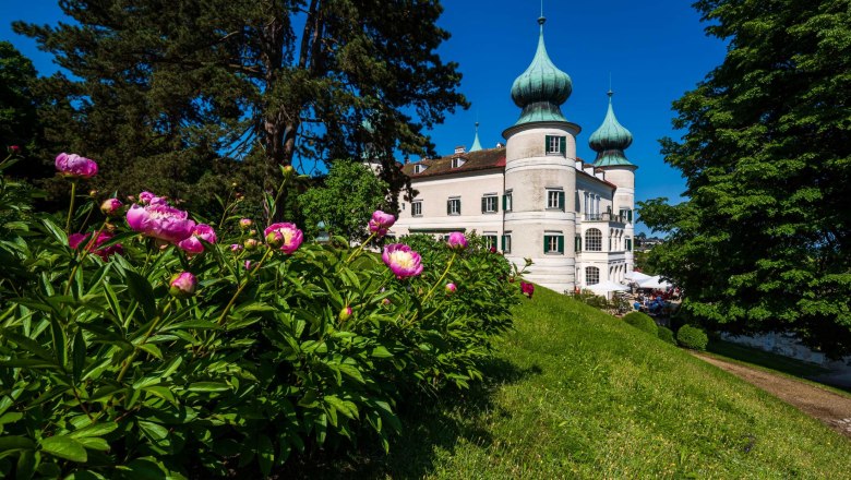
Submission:
POLYGON ((573 92, 571 76, 559 70, 547 55, 543 45, 543 16, 538 19, 541 33, 538 36, 538 50, 529 68, 512 85, 512 99, 523 108, 517 123, 537 121, 567 121, 560 105, 564 104, 573 92))

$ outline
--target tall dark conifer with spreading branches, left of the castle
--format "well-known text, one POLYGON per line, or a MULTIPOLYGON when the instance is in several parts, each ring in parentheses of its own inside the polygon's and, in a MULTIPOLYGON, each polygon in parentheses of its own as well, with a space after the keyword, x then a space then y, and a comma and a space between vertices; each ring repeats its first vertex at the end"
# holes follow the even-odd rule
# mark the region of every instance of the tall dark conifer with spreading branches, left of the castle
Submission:
MULTIPOLYGON (((44 82, 71 105, 69 148, 142 177, 203 181, 211 160, 279 165, 359 158, 369 146, 396 190, 394 153, 431 153, 423 134, 466 106, 438 0, 63 0, 74 23, 17 22, 75 79, 44 82), (77 80, 79 79, 79 80, 77 80), (370 127, 365 127, 370 125, 370 127)), ((393 200, 395 202, 395 197, 393 200)))

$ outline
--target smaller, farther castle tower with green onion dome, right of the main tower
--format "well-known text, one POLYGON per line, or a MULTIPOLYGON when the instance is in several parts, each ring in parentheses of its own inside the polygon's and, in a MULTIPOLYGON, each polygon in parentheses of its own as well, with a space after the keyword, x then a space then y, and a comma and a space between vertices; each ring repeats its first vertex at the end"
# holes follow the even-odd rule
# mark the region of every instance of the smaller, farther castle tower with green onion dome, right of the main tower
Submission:
POLYGON ((624 241, 626 243, 626 272, 632 272, 635 261, 633 249, 635 245, 635 170, 638 168, 626 159, 624 151, 633 143, 633 134, 630 133, 614 117, 612 96, 609 91, 609 110, 602 124, 588 139, 590 147, 597 152, 594 166, 606 171, 606 180, 618 185, 614 192, 612 213, 621 215, 626 224, 624 228, 624 241))

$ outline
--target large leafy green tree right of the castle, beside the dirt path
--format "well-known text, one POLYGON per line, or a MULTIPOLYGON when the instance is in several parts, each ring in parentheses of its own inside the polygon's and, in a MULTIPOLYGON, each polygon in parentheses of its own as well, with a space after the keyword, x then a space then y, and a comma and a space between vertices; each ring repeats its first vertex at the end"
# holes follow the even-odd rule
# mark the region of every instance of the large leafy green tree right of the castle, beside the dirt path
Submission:
POLYGON ((640 203, 687 312, 851 351, 851 2, 702 0, 723 63, 674 103, 662 141, 687 202, 640 203))

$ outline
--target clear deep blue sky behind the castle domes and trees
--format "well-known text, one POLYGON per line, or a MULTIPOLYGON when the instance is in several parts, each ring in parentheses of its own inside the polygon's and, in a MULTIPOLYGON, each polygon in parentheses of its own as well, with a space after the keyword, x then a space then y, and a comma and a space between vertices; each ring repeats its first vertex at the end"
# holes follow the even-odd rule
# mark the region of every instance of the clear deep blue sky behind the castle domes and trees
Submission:
MULTIPOLYGON (((726 46, 707 37, 690 1, 635 2, 544 1, 547 50, 573 80, 564 116, 583 131, 577 153, 594 159, 588 137, 606 115, 611 75, 619 121, 632 131, 627 157, 636 172, 636 200, 667 196, 678 202, 684 190, 680 173, 668 167, 658 140, 679 137, 671 127, 671 103, 723 61, 726 46)), ((448 116, 430 132, 441 154, 472 144, 480 122, 482 146, 504 142, 502 131, 519 117, 511 99, 514 79, 528 67, 538 39, 539 0, 444 0, 440 25, 452 34, 440 49, 446 61, 459 63, 462 92, 472 106, 448 116)), ((40 74, 57 70, 35 43, 12 33, 11 21, 56 24, 62 13, 56 2, 0 2, 0 39, 12 41, 33 59, 40 74)), ((639 231, 646 228, 639 225, 639 231)))

